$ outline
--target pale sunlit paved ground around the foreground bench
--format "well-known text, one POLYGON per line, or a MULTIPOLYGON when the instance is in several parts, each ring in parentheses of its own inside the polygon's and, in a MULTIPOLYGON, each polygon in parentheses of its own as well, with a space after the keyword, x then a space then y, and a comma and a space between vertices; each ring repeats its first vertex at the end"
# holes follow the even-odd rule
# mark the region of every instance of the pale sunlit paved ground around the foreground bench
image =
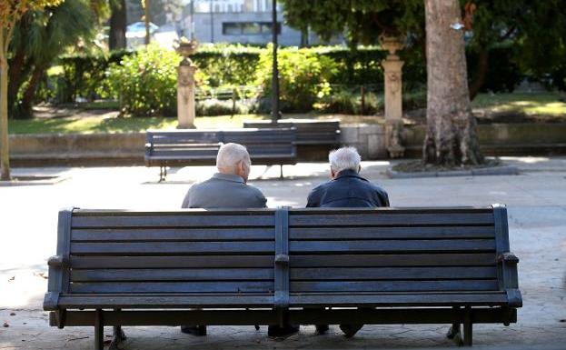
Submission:
MULTIPOLYGON (((387 162, 364 163, 362 174, 381 184, 392 205, 509 206, 511 250, 519 255, 524 307, 519 323, 477 325, 474 343, 489 348, 566 349, 566 158, 506 158, 523 173, 515 176, 444 177, 391 180, 384 177, 387 162), (561 322, 562 320, 562 322, 561 322)), ((253 185, 268 197, 268 205, 303 206, 309 190, 326 179, 327 166, 254 166, 253 185)), ((56 213, 65 206, 83 208, 167 209, 181 205, 194 181, 213 174, 213 168, 173 171, 169 181, 156 183, 158 169, 45 168, 16 169, 16 174, 65 175, 55 185, 0 187, 0 350, 90 349, 92 328, 64 330, 47 326, 41 310, 46 289, 45 259, 55 254, 56 213), (11 315, 15 314, 15 315, 11 315)), ((329 335, 314 335, 312 326, 285 342, 267 339, 266 327, 211 327, 209 335, 194 338, 173 327, 126 328, 126 349, 183 349, 206 346, 213 350, 265 348, 404 348, 451 347, 443 325, 373 325, 346 340, 337 327, 329 335)))

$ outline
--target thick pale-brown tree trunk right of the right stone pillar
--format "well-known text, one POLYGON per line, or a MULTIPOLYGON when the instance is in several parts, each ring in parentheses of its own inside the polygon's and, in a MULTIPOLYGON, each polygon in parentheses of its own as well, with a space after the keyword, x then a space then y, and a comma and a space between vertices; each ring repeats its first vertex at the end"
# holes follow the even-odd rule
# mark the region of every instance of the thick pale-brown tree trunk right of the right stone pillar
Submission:
POLYGON ((425 0, 427 135, 425 163, 477 165, 483 157, 476 135, 466 73, 462 20, 457 0, 425 0))

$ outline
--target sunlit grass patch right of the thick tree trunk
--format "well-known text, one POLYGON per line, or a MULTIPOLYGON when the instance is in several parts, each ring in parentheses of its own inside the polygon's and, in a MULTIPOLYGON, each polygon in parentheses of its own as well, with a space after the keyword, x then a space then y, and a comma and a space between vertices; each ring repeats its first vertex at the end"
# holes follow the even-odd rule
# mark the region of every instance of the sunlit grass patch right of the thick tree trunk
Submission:
POLYGON ((513 112, 526 115, 566 115, 566 103, 560 95, 541 94, 481 94, 472 101, 473 108, 492 112, 513 112))

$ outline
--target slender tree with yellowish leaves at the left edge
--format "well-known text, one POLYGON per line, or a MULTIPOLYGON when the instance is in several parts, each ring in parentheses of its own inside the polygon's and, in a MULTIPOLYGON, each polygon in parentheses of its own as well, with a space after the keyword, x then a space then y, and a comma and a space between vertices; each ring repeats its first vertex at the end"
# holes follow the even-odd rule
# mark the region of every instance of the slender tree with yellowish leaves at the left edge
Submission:
POLYGON ((2 0, 0 2, 0 180, 10 180, 8 145, 8 47, 15 25, 28 11, 42 11, 45 6, 59 5, 63 0, 2 0))

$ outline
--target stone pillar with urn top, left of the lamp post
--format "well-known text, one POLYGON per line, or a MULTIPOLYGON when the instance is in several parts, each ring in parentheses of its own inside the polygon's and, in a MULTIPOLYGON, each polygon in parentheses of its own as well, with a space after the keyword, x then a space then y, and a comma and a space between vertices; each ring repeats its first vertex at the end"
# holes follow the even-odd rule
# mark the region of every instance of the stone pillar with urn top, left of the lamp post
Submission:
POLYGON ((183 61, 177 67, 177 128, 194 129, 194 73, 196 66, 189 59, 196 51, 197 43, 195 40, 187 41, 182 39, 177 47, 177 52, 183 55, 183 61))

